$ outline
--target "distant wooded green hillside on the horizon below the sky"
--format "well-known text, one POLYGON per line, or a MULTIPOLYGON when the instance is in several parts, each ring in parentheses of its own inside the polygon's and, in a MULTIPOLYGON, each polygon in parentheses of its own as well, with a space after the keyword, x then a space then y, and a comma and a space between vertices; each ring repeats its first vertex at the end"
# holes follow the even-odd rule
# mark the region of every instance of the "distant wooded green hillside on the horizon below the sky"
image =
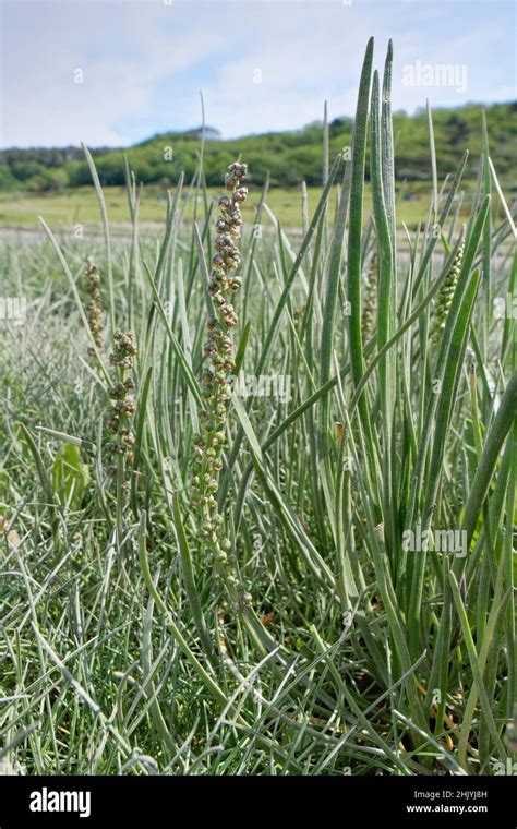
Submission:
MULTIPOLYGON (((436 154, 440 172, 453 170, 465 148, 471 153, 468 175, 473 176, 476 159, 482 152, 481 105, 433 112, 436 154)), ((485 108, 490 152, 495 167, 505 181, 517 163, 517 104, 495 104, 485 108)), ((352 119, 337 118, 329 124, 332 158, 350 143, 352 119)), ((399 180, 429 179, 429 140, 426 113, 394 116, 396 135, 396 170, 399 180)), ((205 144, 206 183, 220 184, 220 170, 240 153, 250 168, 250 181, 262 184, 267 175, 270 183, 293 187, 300 181, 318 185, 322 180, 323 124, 309 124, 292 132, 249 135, 231 141, 211 139, 205 144)), ((94 149, 103 184, 124 183, 123 153, 125 152, 136 179, 144 183, 168 187, 181 171, 187 180, 197 164, 200 137, 190 133, 164 133, 128 149, 94 149)), ((0 152, 0 188, 9 191, 48 192, 91 184, 91 176, 81 148, 9 148, 0 152)))

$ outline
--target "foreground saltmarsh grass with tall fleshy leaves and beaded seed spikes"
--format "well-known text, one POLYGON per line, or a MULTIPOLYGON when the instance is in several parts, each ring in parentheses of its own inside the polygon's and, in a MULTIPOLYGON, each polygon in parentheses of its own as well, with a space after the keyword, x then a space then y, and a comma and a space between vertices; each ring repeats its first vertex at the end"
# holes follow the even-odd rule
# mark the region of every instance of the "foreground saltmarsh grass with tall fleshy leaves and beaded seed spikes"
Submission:
POLYGON ((493 313, 515 297, 515 227, 486 131, 462 226, 467 153, 441 181, 431 111, 428 220, 399 227, 392 62, 389 45, 381 79, 369 43, 351 158, 324 143, 301 240, 267 187, 241 232, 245 165, 213 204, 202 148, 193 226, 180 179, 144 239, 127 168, 113 244, 86 152, 104 241, 41 220, 46 241, 7 248, 4 292, 29 299, 1 329, 9 768, 515 768, 512 301, 493 313), (290 395, 241 398, 241 372, 290 395))

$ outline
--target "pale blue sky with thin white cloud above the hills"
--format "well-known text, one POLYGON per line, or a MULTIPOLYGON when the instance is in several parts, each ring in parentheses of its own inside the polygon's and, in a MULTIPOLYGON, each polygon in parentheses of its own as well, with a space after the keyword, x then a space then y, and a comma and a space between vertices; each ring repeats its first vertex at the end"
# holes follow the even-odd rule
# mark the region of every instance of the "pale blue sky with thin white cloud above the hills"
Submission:
POLYGON ((380 68, 394 40, 395 109, 516 96, 513 2, 0 0, 0 14, 3 147, 194 127, 200 91, 225 137, 297 129, 325 99, 330 118, 352 115, 370 35, 380 68), (440 80, 444 65, 456 81, 440 80))

